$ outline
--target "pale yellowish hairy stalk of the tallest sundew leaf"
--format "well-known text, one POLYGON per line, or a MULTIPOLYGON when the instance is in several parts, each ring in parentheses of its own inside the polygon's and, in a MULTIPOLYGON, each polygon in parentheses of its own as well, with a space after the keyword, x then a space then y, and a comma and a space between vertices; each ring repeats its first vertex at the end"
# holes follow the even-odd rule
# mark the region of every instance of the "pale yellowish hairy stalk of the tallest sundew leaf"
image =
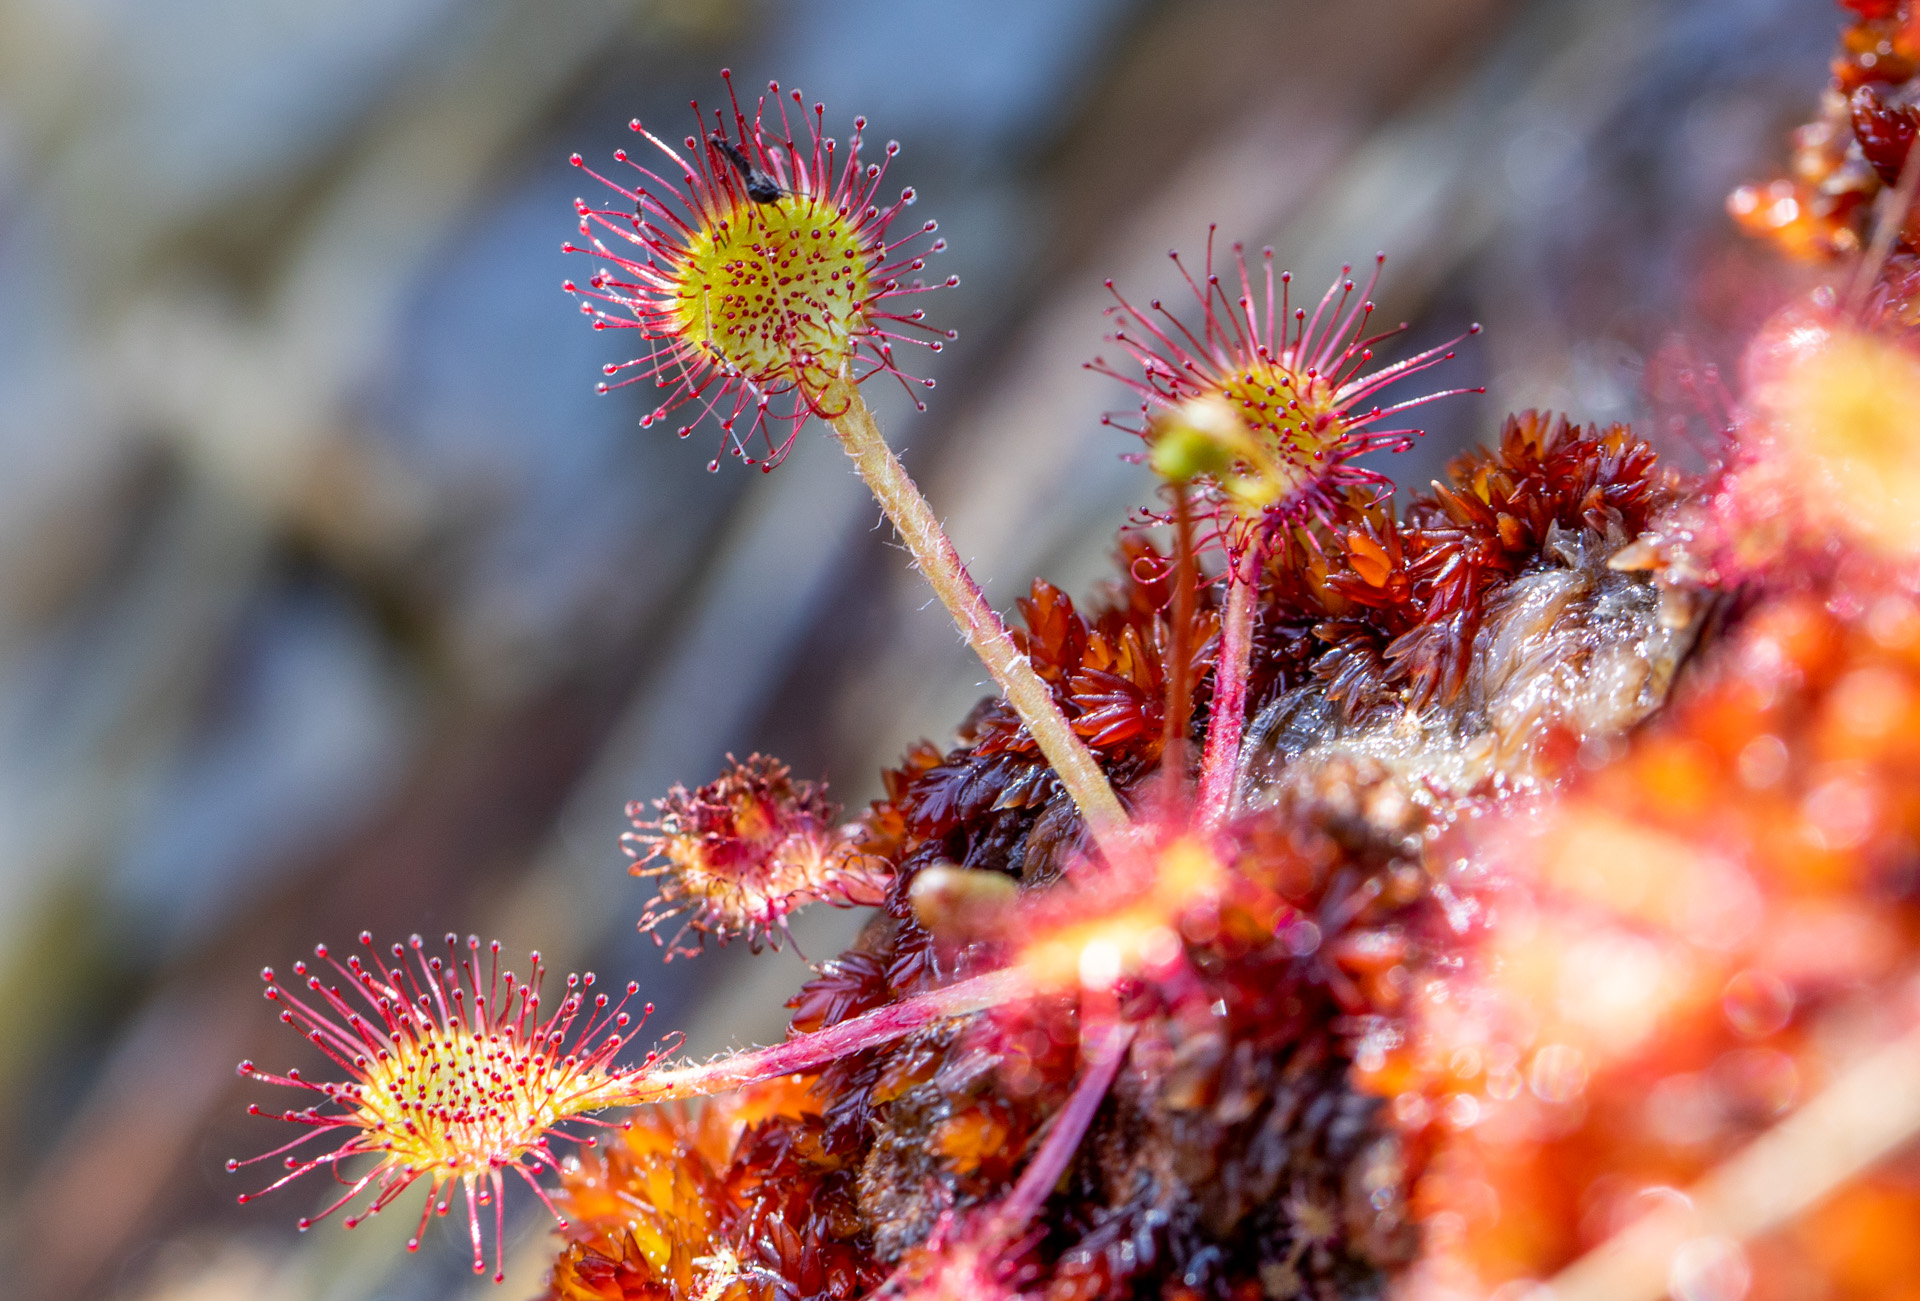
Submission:
POLYGON ((933 587, 933 593, 947 606, 948 614, 954 616, 960 635, 966 637, 973 654, 993 674, 1000 691, 1006 693, 1006 702, 1014 706, 1020 721, 1027 725, 1027 733, 1041 746, 1041 754, 1046 756, 1046 762, 1060 775, 1060 785, 1068 789, 1068 794, 1079 806, 1094 842, 1102 846, 1102 852, 1112 862, 1114 854, 1108 850, 1108 844, 1127 825, 1127 810, 1121 806, 1119 796, 1114 794, 1114 787, 1100 769, 1100 762, 1087 748, 1087 743, 1075 735, 1073 725, 1060 712, 1052 689, 1033 672, 1027 656, 1014 645, 1006 624, 987 604, 979 583, 968 574, 960 553, 954 551, 952 541, 947 537, 947 530, 935 518, 933 507, 920 495, 914 480, 906 474, 906 466, 900 464, 893 449, 887 447, 887 439, 881 438, 879 426, 874 424, 874 413, 868 411, 860 391, 852 386, 843 386, 828 393, 824 403, 829 409, 845 407, 841 414, 833 416, 833 432, 839 436, 841 447, 852 457, 854 468, 874 491, 881 510, 893 520, 893 528, 899 530, 900 541, 914 555, 914 562, 933 587))

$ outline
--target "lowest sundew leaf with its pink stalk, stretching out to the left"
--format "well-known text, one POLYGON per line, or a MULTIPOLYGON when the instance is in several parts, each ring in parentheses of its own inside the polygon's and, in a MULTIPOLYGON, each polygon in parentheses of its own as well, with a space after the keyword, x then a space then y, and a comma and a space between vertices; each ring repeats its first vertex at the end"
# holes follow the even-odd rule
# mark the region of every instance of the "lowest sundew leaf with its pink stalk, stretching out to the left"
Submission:
MULTIPOLYGON (((927 1025, 960 1017, 1008 1000, 1018 988, 1008 973, 989 973, 945 988, 879 1007, 860 1017, 753 1052, 708 1063, 664 1067, 662 1055, 678 1048, 670 1036, 634 1065, 614 1065, 614 1057, 637 1029, 628 1002, 639 992, 628 982, 614 1002, 593 992, 593 973, 566 977, 561 1002, 541 1015, 540 954, 530 959, 522 981, 499 967, 499 942, 480 958, 480 940, 463 944, 449 934, 447 956, 428 954, 420 936, 394 944, 392 965, 374 950, 372 934, 361 933, 367 958, 334 958, 324 944, 315 956, 340 982, 321 977, 321 967, 294 963, 296 986, 284 984, 269 967, 261 973, 267 1000, 280 1005, 280 1021, 300 1030, 348 1078, 311 1080, 298 1067, 284 1075, 240 1063, 240 1075, 265 1084, 301 1090, 321 1101, 290 1107, 280 1121, 305 1132, 271 1151, 227 1163, 228 1172, 280 1159, 286 1171, 259 1192, 240 1201, 275 1192, 303 1174, 328 1169, 346 1188, 326 1209, 300 1218, 300 1228, 340 1211, 361 1194, 372 1194, 349 1213, 353 1228, 378 1215, 407 1188, 426 1180, 420 1224, 407 1242, 420 1245, 420 1232, 432 1215, 445 1215, 459 1188, 467 1201, 467 1228, 472 1240, 474 1272, 486 1272, 482 1207, 493 1211, 493 1282, 505 1278, 501 1261, 505 1172, 516 1172, 566 1228, 536 1171, 559 1172, 555 1138, 591 1146, 591 1136, 570 1132, 568 1124, 612 1128, 593 1117, 607 1107, 636 1107, 678 1098, 705 1098, 747 1084, 758 1084, 822 1065, 876 1044, 887 1044, 927 1025), (344 1136, 338 1146, 301 1153, 315 1138, 344 1136), (371 1157, 353 1172, 342 1163, 371 1157)), ((647 1004, 641 1011, 653 1011, 647 1004)), ((275 1115, 259 1103, 250 1115, 275 1115)))

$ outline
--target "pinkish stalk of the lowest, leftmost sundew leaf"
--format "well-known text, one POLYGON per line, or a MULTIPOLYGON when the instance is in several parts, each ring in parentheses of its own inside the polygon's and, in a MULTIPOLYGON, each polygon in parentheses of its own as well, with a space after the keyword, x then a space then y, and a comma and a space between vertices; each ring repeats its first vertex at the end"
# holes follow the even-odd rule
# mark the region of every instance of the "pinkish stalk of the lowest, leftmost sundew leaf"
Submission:
POLYGON ((948 984, 931 994, 918 994, 887 1007, 876 1007, 864 1015, 829 1025, 812 1034, 799 1034, 772 1048, 753 1048, 732 1053, 718 1061, 693 1067, 674 1067, 670 1071, 636 1071, 620 1076, 595 1107, 636 1107, 649 1101, 672 1101, 676 1098, 705 1098, 724 1094, 760 1080, 797 1071, 818 1071, 849 1053, 877 1044, 889 1044, 904 1034, 912 1034, 935 1021, 964 1017, 987 1007, 996 1007, 1025 988, 1018 971, 991 971, 958 984, 948 984))

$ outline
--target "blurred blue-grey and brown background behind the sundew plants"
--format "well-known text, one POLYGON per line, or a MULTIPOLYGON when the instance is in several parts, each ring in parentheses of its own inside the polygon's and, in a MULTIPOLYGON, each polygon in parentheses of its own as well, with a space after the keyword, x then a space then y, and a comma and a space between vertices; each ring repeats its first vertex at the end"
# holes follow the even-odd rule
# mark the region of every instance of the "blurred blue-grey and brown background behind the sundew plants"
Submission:
MULTIPOLYGON (((301 1061, 257 969, 497 934, 766 1042, 791 950, 662 965, 622 806, 755 748, 849 808, 983 674, 818 430, 760 476, 597 397, 632 336, 559 284, 586 178, 716 71, 906 150, 960 342, 893 443, 995 603, 1089 597, 1144 501, 1100 282, 1273 244, 1390 261, 1409 347, 1480 320, 1388 466, 1551 405, 1686 459, 1688 380, 1793 272, 1726 190, 1809 115, 1826 0, 0 0, 0 1249, 8 1297, 349 1301, 541 1286, 396 1211, 234 1207, 301 1061)), ((1692 420, 1703 428, 1699 418, 1692 420)), ((856 927, 812 915, 829 956, 856 927)), ((259 1178, 257 1182, 265 1182, 259 1178)), ((413 1199, 409 1197, 409 1203, 413 1199)))

